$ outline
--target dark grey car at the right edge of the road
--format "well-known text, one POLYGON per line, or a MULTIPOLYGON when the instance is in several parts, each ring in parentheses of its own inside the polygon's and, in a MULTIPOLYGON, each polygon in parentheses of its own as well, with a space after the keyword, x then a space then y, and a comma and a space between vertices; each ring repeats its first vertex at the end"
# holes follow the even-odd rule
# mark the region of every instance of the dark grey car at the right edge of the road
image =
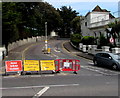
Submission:
POLYGON ((94 65, 108 66, 114 70, 120 69, 120 54, 107 52, 97 53, 93 58, 94 65))

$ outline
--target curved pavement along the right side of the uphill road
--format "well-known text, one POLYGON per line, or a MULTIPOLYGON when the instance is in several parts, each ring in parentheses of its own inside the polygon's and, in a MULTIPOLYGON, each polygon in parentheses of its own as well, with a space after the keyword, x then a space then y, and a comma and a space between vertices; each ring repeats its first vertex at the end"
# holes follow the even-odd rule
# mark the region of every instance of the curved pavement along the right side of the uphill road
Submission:
POLYGON ((80 56, 80 57, 83 57, 83 58, 86 58, 86 59, 89 59, 89 60, 93 60, 93 55, 90 55, 88 53, 83 53, 81 52, 80 50, 74 48, 70 42, 66 42, 63 44, 64 48, 71 52, 71 53, 75 53, 77 56, 80 56))

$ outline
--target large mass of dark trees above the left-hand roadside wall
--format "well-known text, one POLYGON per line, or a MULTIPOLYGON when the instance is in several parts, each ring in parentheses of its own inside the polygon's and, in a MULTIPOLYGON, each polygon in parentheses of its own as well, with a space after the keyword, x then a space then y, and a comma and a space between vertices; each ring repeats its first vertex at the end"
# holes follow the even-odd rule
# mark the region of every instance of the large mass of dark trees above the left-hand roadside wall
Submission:
POLYGON ((3 43, 45 34, 59 28, 61 17, 47 2, 3 2, 2 3, 3 43), (7 35, 7 36, 6 36, 7 35))

